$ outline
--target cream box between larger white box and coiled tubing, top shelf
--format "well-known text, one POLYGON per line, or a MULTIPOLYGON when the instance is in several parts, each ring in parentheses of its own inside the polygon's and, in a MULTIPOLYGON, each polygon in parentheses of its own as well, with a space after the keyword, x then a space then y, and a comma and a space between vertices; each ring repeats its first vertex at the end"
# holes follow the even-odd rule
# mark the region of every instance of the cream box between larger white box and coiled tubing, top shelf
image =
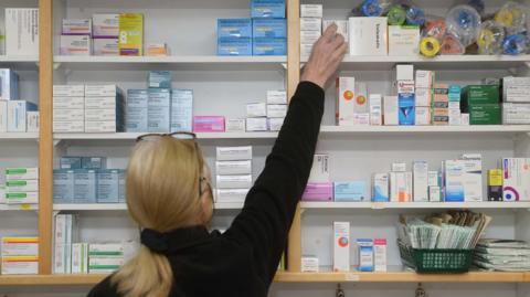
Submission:
POLYGON ((416 56, 418 53, 420 26, 389 25, 389 55, 416 56))

